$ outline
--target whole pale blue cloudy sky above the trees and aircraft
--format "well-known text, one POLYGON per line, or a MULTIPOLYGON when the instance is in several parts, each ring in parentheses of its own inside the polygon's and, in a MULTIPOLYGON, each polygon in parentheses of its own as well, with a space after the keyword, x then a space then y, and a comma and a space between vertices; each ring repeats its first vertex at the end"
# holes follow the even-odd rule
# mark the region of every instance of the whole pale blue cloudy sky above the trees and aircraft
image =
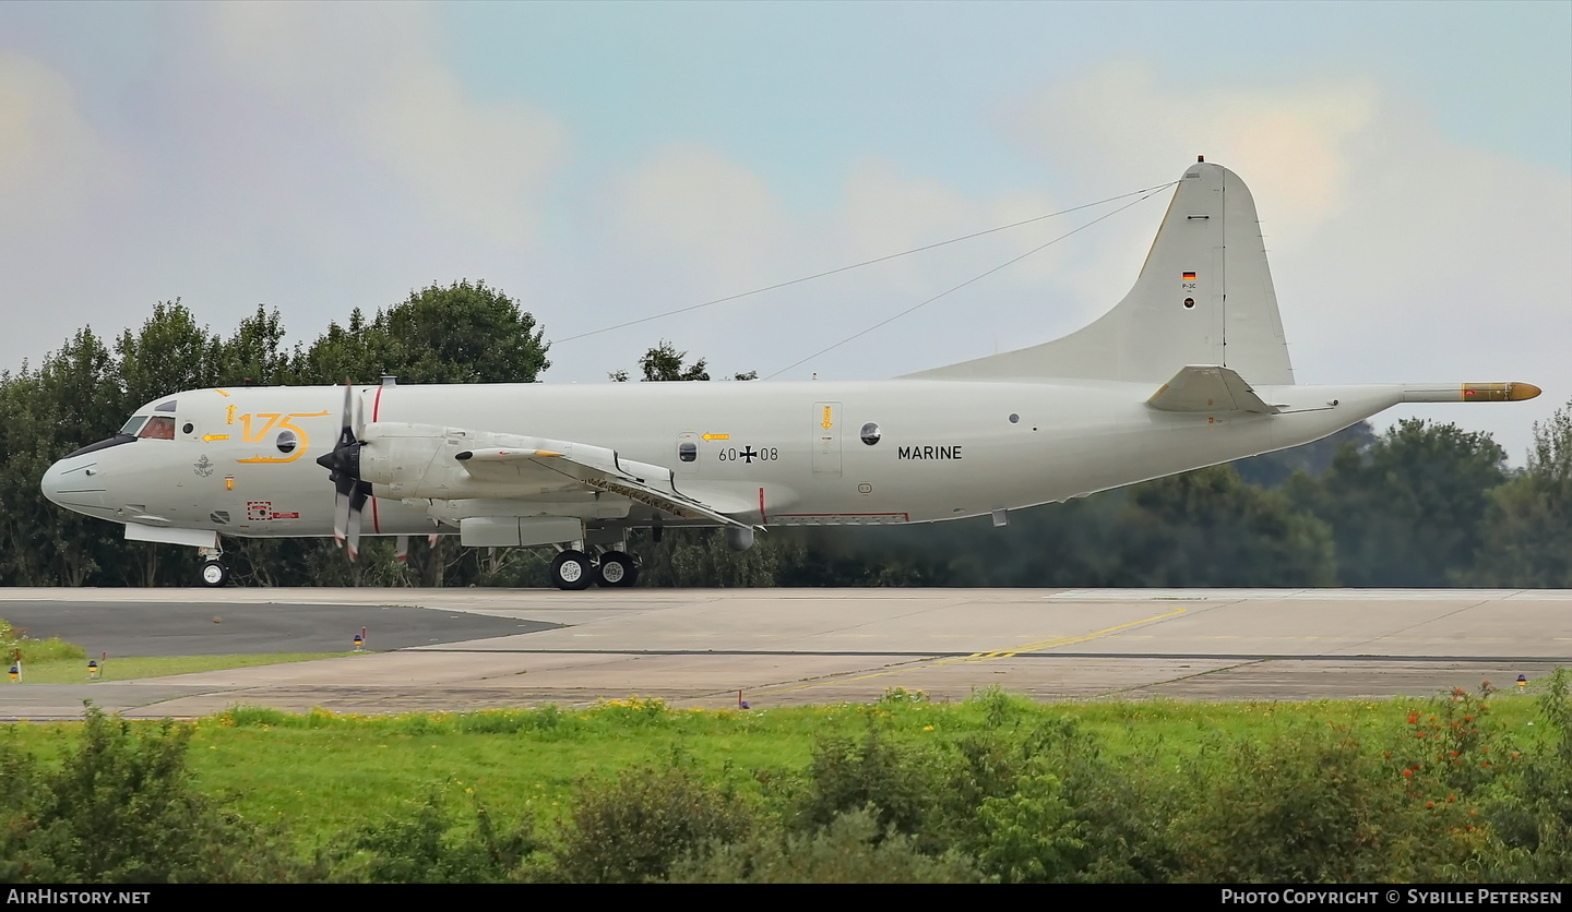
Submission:
POLYGON ((1572 400, 1567 2, 13 0, 0 369, 157 301, 310 342, 468 278, 545 328, 547 383, 663 339, 893 377, 1091 322, 1170 192, 1122 195, 1198 154, 1254 195, 1300 383, 1534 383, 1374 419, 1523 465, 1572 400))

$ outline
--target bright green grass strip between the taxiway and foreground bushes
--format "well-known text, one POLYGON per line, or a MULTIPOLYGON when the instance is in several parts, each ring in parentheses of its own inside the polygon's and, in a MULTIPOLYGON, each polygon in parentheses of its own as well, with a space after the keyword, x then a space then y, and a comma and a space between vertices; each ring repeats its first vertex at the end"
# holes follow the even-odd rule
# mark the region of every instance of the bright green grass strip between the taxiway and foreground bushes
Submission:
MULTIPOLYGON (((938 749, 984 730, 1025 730, 1044 719, 1069 719, 1099 735, 1110 758, 1198 775, 1217 761, 1217 747, 1226 742, 1264 742, 1295 727, 1377 733, 1426 706, 1431 703, 1421 699, 1036 705, 998 692, 945 705, 885 699, 876 705, 755 711, 670 710, 660 700, 640 699, 590 710, 402 716, 237 706, 195 722, 190 763, 203 791, 233 797, 242 816, 283 823, 310 841, 332 838, 355 821, 404 815, 412 801, 434 790, 453 799, 475 794, 500 813, 558 819, 582 779, 660 766, 673 752, 739 791, 762 797, 769 782, 791 779, 805 768, 821 738, 860 738, 869 724, 898 741, 938 749)), ((1501 731, 1520 742, 1533 738, 1533 700, 1519 694, 1490 700, 1501 731)), ((79 724, 8 728, 3 736, 53 757, 79 724)))

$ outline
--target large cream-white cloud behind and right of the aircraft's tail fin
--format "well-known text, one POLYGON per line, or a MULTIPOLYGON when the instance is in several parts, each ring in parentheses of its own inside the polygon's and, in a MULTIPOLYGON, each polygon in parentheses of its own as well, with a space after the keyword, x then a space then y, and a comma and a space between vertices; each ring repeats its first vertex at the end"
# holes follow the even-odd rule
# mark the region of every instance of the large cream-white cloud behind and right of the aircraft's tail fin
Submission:
MULTIPOLYGON (((1012 129, 1097 187, 1177 176, 1195 154, 1232 168, 1256 199, 1298 380, 1537 383, 1526 405, 1413 410, 1522 458, 1528 425, 1572 394, 1572 177, 1460 144, 1438 116, 1361 80, 1177 89, 1110 64, 1045 88, 1012 129)), ((1130 251, 1094 254, 1066 278, 1093 295, 1137 267, 1130 251)))

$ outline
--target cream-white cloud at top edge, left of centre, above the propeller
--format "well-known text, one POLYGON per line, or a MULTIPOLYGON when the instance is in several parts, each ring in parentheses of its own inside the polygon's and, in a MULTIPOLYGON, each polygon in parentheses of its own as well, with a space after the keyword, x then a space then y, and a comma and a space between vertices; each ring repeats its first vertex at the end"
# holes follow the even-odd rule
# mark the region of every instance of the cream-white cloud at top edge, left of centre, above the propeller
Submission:
POLYGON ((431 215, 505 245, 533 240, 567 132, 520 102, 472 97, 440 60, 421 5, 220 3, 212 58, 336 133, 431 215))

